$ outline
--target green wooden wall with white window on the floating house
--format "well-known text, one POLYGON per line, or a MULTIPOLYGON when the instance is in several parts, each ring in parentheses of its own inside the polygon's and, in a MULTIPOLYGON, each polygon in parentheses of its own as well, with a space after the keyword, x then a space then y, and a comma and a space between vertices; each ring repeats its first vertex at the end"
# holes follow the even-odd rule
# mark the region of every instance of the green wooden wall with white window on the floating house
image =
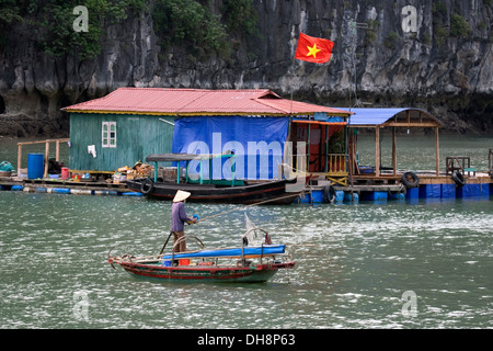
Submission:
POLYGON ((130 114, 70 114, 70 161, 72 170, 115 171, 145 161, 151 154, 171 152, 173 117, 130 114), (102 147, 103 122, 116 122, 116 148, 102 147), (96 157, 88 152, 95 145, 96 157))

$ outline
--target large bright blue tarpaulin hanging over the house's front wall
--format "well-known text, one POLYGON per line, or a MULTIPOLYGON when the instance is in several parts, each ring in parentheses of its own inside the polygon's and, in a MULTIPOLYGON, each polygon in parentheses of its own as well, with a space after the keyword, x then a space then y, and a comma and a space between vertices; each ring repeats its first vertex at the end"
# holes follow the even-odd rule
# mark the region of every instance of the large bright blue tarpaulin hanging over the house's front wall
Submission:
MULTIPOLYGON (((175 121, 174 154, 234 154, 234 167, 228 159, 210 161, 211 179, 275 179, 283 162, 288 117, 202 116, 175 121)), ((182 167, 185 165, 182 163, 182 167)), ((191 178, 199 173, 199 161, 188 166, 191 178)), ((208 165, 203 178, 209 179, 208 165)))

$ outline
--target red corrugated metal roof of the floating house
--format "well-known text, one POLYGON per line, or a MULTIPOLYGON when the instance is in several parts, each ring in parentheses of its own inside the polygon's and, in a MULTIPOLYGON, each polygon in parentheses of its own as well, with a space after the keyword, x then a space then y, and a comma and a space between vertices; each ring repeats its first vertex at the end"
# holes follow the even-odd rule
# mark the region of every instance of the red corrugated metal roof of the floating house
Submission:
POLYGON ((286 115, 348 112, 280 99, 267 89, 204 90, 167 88, 119 88, 104 98, 62 109, 87 113, 146 113, 168 115, 256 114, 286 115))

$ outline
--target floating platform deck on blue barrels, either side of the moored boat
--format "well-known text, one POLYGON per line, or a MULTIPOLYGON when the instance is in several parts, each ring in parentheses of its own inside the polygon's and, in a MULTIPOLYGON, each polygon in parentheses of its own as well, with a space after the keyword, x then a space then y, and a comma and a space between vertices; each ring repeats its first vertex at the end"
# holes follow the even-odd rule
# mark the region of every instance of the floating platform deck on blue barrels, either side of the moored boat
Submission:
MULTIPOLYGON (((490 199, 493 195, 493 179, 488 173, 466 176, 466 184, 457 185, 450 176, 434 176, 420 173, 420 184, 416 188, 406 188, 395 177, 380 177, 367 179, 366 184, 333 185, 330 182, 319 183, 307 188, 305 195, 295 200, 295 204, 322 203, 386 203, 388 201, 419 201, 425 200, 454 200, 454 199, 490 199)), ((107 182, 76 182, 71 180, 20 178, 0 178, 0 190, 24 191, 73 195, 115 195, 142 196, 139 192, 129 190, 125 183, 114 184, 107 182)))

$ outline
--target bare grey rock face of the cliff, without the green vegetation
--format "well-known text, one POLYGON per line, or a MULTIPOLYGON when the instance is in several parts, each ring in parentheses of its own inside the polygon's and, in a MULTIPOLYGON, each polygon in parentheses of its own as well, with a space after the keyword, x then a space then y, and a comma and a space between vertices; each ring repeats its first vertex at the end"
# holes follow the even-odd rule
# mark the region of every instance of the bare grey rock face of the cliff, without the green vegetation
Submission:
POLYGON ((260 34, 234 38, 230 59, 162 50, 151 7, 106 25, 94 59, 54 59, 28 37, 10 38, 0 53, 0 135, 67 133, 62 106, 119 87, 267 88, 331 106, 416 106, 450 131, 493 131, 493 1, 253 3, 260 34), (329 64, 294 60, 300 32, 334 42, 329 64))

